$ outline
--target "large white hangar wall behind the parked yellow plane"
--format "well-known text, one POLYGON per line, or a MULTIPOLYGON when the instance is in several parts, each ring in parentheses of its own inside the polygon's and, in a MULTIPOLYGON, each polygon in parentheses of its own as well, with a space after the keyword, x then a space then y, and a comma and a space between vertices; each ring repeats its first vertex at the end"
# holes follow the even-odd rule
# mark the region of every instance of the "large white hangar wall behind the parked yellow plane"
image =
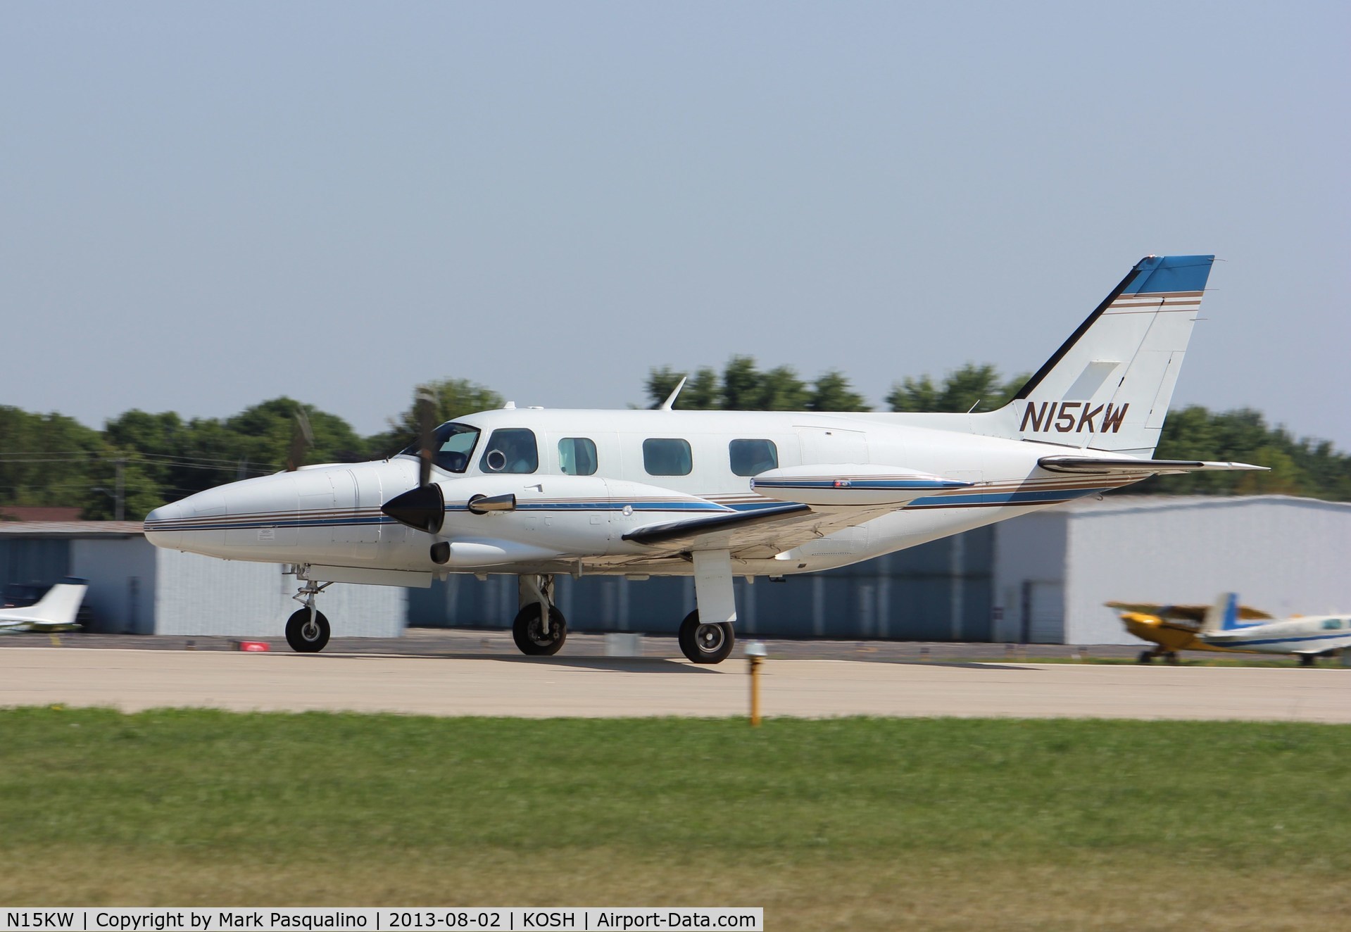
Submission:
POLYGON ((1111 600, 1210 604, 1232 590, 1277 616, 1351 611, 1348 504, 1117 497, 1067 519, 1066 643, 1140 643, 1111 600))

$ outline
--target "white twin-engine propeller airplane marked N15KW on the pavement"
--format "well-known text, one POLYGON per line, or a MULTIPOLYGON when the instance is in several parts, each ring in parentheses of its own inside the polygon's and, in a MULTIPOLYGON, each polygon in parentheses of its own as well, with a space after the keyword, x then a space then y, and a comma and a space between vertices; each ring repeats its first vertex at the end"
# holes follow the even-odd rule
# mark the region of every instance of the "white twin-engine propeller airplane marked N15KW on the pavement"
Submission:
MULTIPOLYGON (((334 582, 430 586, 519 577, 524 654, 567 625, 561 573, 693 575, 680 627, 694 663, 732 650, 736 575, 784 577, 889 554, 1156 473, 1260 469, 1150 459, 1210 255, 1148 257, 1017 393, 986 413, 485 411, 396 457, 307 466, 157 508, 159 547, 288 563, 297 651, 328 642, 334 582)), ((682 382, 684 384, 684 382, 682 382)))

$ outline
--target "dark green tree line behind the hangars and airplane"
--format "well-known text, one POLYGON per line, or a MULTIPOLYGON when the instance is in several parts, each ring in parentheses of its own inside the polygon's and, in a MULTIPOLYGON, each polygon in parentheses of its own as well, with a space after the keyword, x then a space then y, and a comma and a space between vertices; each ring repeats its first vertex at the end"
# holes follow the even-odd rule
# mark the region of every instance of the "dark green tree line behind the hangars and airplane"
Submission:
MULTIPOLYGON (((659 405, 682 374, 669 366, 646 380, 648 407, 659 405)), ((994 366, 969 363, 940 380, 907 377, 892 386, 889 411, 993 411, 1027 381, 1002 378, 994 366)), ((419 385, 408 407, 370 436, 339 417, 281 397, 224 419, 185 420, 174 412, 128 411, 93 430, 59 413, 0 405, 0 505, 76 505, 86 519, 141 520, 174 498, 223 482, 304 462, 363 462, 404 448, 417 435, 416 401, 430 392, 438 423, 500 408, 503 397, 467 380, 419 385)), ((830 370, 801 378, 789 366, 761 370, 751 357, 732 357, 721 370, 692 373, 676 405, 686 411, 870 411, 848 378, 830 370)), ((1269 466, 1269 473, 1198 473, 1155 477, 1127 492, 1155 494, 1281 493, 1351 501, 1351 455, 1331 442, 1294 438, 1256 411, 1173 411, 1163 427, 1161 459, 1221 459, 1269 466)))

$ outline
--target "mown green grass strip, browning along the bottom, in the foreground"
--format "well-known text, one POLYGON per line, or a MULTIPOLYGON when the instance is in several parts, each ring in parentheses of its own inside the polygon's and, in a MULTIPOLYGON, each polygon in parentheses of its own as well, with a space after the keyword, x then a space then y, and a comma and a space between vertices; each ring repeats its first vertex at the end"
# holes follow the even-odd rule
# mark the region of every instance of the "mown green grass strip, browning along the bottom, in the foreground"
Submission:
POLYGON ((0 710, 7 905, 1344 928, 1348 812, 1346 725, 0 710))

